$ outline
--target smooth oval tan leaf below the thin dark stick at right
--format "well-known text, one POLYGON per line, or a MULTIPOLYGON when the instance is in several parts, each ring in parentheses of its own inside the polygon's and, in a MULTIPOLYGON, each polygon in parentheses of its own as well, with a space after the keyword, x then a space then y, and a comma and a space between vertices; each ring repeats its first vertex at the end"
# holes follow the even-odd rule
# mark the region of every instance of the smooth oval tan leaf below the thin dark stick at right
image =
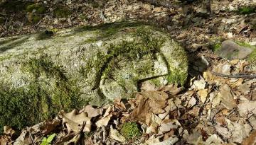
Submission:
POLYGON ((234 99, 234 93, 227 84, 224 84, 223 86, 220 87, 220 95, 221 95, 221 103, 223 103, 225 108, 228 108, 229 110, 232 110, 233 108, 237 108, 237 104, 234 99))

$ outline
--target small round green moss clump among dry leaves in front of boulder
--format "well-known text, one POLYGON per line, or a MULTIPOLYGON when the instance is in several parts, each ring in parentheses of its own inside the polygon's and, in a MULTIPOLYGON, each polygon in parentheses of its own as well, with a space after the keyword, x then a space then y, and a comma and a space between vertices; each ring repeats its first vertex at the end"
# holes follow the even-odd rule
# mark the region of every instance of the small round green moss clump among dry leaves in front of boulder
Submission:
POLYGON ((142 136, 142 131, 136 122, 125 122, 122 125, 121 134, 125 139, 130 140, 142 136))

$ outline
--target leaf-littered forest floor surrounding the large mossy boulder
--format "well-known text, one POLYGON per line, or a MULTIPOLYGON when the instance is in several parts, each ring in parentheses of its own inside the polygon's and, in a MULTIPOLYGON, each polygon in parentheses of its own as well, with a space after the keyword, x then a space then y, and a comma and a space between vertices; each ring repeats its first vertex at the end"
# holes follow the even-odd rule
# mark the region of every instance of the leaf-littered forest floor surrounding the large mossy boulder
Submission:
POLYGON ((0 1, 0 37, 139 20, 167 30, 189 62, 185 87, 144 84, 137 98, 60 111, 22 132, 5 127, 1 144, 256 144, 256 1, 214 0, 210 11, 200 0, 166 4, 0 1), (222 49, 225 40, 252 54, 230 58, 239 49, 222 49))

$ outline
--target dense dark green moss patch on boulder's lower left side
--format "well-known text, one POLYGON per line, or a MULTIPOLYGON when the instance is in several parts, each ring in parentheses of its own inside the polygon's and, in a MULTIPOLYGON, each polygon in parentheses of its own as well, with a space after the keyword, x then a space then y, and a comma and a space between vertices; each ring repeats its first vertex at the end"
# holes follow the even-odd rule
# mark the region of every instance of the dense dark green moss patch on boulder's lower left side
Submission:
POLYGON ((24 62, 23 72, 32 74, 33 81, 19 88, 0 86, 0 129, 4 125, 21 129, 54 117, 62 109, 70 111, 85 103, 63 69, 47 57, 24 62), (54 81, 49 84, 42 77, 54 81))

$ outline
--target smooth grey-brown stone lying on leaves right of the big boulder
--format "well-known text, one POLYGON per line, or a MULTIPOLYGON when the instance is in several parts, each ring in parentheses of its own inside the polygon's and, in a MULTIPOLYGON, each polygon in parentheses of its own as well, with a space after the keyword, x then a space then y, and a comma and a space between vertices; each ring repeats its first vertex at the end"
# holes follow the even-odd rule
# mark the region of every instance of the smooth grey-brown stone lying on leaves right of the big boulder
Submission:
POLYGON ((223 41, 220 50, 217 51, 217 54, 225 59, 245 59, 251 53, 252 48, 240 46, 232 40, 223 41))

